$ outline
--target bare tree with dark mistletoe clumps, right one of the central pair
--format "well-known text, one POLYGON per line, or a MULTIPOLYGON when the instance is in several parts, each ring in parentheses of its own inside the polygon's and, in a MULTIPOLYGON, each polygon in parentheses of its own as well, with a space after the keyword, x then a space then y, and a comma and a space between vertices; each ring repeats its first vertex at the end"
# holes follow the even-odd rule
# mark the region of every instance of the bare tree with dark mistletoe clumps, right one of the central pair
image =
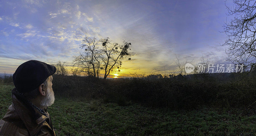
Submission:
MULTIPOLYGON (((122 60, 124 57, 130 56, 128 50, 131 50, 130 48, 132 44, 126 41, 123 41, 123 45, 112 43, 109 41, 108 37, 101 39, 100 42, 103 47, 101 50, 101 52, 103 52, 101 60, 104 66, 104 79, 106 79, 113 69, 120 71, 122 60)), ((131 60, 131 58, 128 60, 131 60)))

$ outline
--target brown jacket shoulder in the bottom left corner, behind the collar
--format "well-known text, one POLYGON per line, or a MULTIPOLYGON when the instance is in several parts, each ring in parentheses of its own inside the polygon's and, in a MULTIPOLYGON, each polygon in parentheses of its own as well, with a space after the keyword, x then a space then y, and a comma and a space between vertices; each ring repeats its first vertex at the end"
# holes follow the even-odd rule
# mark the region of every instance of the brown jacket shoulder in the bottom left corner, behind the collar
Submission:
POLYGON ((0 120, 0 136, 2 135, 28 134, 26 127, 15 111, 14 107, 9 106, 7 113, 0 120))

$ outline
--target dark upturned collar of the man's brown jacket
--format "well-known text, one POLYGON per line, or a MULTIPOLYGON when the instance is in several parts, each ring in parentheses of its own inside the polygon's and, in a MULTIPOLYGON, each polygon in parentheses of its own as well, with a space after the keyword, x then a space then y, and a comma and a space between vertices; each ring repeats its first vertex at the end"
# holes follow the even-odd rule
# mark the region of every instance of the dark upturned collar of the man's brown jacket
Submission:
POLYGON ((49 118, 46 109, 44 113, 42 109, 38 110, 39 108, 24 99, 16 88, 12 89, 12 103, 30 135, 35 135, 43 125, 48 125, 45 122, 49 118))

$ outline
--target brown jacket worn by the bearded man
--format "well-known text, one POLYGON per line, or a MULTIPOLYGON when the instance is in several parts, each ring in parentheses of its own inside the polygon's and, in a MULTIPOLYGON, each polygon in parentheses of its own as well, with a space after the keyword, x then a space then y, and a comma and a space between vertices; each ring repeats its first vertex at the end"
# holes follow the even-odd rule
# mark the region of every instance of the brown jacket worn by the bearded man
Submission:
POLYGON ((33 110, 29 110, 24 102, 12 94, 12 105, 0 120, 0 136, 55 136, 47 110, 45 115, 38 114, 37 119, 33 116, 33 110))

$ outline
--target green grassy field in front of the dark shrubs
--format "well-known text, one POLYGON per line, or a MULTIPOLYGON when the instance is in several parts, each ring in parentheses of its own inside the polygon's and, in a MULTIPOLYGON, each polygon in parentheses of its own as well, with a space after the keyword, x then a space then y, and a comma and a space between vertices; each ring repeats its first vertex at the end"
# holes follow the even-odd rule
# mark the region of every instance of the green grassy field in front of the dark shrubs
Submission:
MULTIPOLYGON (((11 102, 13 85, 0 84, 0 117, 11 102)), ((255 135, 255 110, 168 111, 139 104, 118 106, 101 100, 56 97, 48 108, 56 135, 255 135)))

